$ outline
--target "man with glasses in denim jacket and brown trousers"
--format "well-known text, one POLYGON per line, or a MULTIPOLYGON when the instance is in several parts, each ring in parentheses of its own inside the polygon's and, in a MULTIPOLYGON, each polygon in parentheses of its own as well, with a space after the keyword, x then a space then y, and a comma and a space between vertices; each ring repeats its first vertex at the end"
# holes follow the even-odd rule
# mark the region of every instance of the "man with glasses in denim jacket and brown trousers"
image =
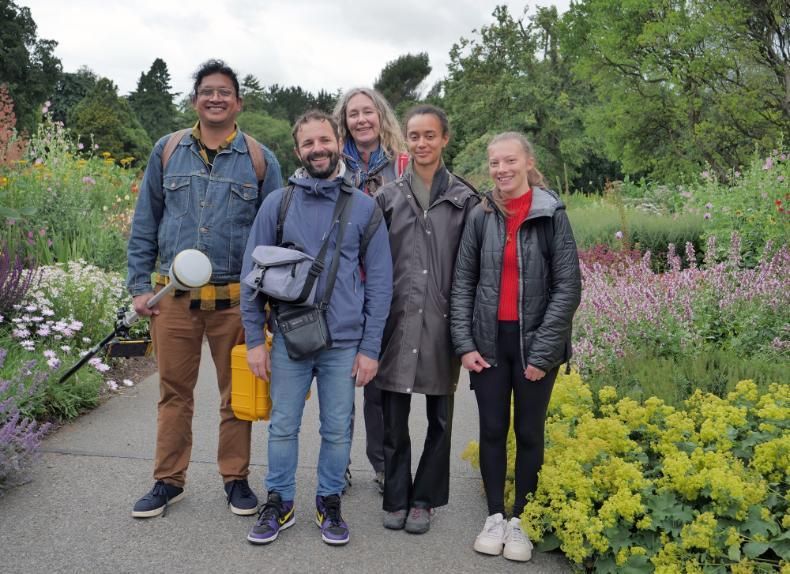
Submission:
POLYGON ((234 514, 255 514, 258 506, 247 483, 251 423, 236 419, 230 406, 230 354, 243 340, 239 275, 247 236, 263 198, 281 186, 282 178, 272 152, 236 125, 242 100, 233 70, 209 60, 194 79, 192 105, 198 122, 154 146, 129 237, 127 286, 135 311, 151 316, 160 390, 155 484, 134 505, 135 518, 162 514, 184 496, 204 336, 220 392, 217 462, 225 496, 234 514), (176 291, 149 309, 152 271, 158 272, 159 289, 184 249, 208 256, 209 284, 176 291))

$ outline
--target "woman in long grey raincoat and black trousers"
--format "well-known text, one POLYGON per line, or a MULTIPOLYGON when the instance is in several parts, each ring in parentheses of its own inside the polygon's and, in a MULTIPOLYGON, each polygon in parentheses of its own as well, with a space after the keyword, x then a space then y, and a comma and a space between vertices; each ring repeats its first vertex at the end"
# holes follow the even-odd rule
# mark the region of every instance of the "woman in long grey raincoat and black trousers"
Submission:
POLYGON ((429 105, 405 121, 406 172, 376 195, 389 229, 393 297, 374 384, 384 407, 384 526, 421 534, 447 504, 453 393, 460 372, 450 338, 450 287, 475 190, 444 166, 447 115, 429 105), (411 475, 411 396, 425 395, 428 434, 411 475))

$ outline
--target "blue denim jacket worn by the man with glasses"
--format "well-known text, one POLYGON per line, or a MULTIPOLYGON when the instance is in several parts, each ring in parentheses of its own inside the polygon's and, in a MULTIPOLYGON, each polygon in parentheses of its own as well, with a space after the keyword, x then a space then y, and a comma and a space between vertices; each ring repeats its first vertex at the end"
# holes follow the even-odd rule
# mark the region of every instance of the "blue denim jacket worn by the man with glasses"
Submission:
POLYGON ((244 135, 208 166, 191 134, 183 137, 162 174, 160 139, 151 152, 132 220, 127 287, 132 296, 152 290, 151 272, 166 275, 177 253, 198 249, 211 261, 211 283, 239 281, 250 227, 263 198, 282 186, 280 164, 263 148, 266 177, 257 183, 244 135))

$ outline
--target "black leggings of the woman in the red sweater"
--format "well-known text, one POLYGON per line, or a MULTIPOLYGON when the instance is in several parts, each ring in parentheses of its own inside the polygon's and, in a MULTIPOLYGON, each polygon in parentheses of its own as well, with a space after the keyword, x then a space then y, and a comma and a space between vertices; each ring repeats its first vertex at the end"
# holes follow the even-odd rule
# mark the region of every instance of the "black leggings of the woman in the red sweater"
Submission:
POLYGON ((480 412, 480 473, 488 499, 488 514, 505 514, 505 472, 507 432, 510 427, 510 399, 514 398, 513 426, 516 432, 516 498, 513 516, 524 511, 526 496, 538 487, 538 471, 543 465, 543 429, 554 379, 559 367, 540 381, 524 378, 521 364, 519 326, 500 321, 497 366, 470 373, 480 412))

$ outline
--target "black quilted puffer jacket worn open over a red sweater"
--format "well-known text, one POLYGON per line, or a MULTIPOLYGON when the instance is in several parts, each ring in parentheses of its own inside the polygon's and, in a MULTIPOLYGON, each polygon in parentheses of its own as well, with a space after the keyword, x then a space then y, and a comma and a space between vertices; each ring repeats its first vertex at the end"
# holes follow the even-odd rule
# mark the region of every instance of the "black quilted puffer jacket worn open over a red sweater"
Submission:
MULTIPOLYGON (((493 205, 493 202, 487 202, 493 205)), ((496 365, 497 313, 505 248, 505 218, 478 205, 464 230, 450 297, 450 332, 458 355, 478 351, 496 365)), ((518 231, 519 324, 523 367, 550 371, 571 357, 571 323, 581 299, 576 241, 565 205, 533 188, 518 231)))

